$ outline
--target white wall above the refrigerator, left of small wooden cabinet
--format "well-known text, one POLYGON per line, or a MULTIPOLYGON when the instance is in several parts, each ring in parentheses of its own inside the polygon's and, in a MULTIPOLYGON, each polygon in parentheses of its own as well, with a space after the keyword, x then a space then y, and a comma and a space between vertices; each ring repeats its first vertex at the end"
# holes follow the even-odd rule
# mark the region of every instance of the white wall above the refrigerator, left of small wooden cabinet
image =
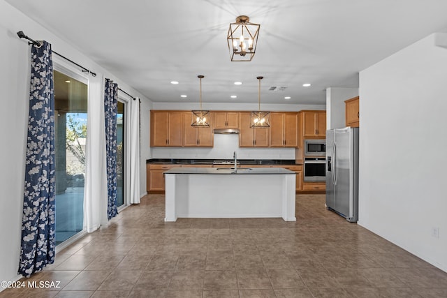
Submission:
POLYGON ((346 126, 344 100, 358 96, 358 88, 326 89, 326 127, 343 128, 346 126))

